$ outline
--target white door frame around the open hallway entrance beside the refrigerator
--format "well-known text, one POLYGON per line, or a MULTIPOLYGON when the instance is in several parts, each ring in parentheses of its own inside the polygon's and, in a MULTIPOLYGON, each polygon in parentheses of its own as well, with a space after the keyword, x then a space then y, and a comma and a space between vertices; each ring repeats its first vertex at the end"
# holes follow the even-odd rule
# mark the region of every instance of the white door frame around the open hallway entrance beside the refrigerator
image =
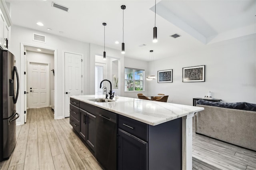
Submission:
MULTIPOLYGON (((58 103, 57 103, 57 99, 58 99, 58 64, 57 64, 57 49, 55 48, 51 48, 51 47, 45 47, 45 46, 40 46, 40 45, 34 45, 34 44, 30 44, 30 43, 20 43, 20 82, 24 82, 24 83, 20 83, 20 99, 24 99, 24 97, 27 98, 27 95, 25 96, 23 91, 25 91, 24 89, 24 85, 26 83, 26 81, 24 80, 24 72, 26 71, 26 68, 25 68, 25 63, 26 61, 24 60, 24 46, 31 46, 31 47, 37 47, 37 48, 44 48, 44 49, 48 49, 48 50, 52 50, 54 51, 54 69, 56 70, 56 72, 54 73, 54 90, 55 90, 55 93, 56 95, 54 95, 54 105, 56 107, 54 107, 54 119, 58 119, 57 115, 58 115, 58 103)), ((28 66, 27 66, 28 67, 28 66)), ((18 99, 19 100, 19 99, 18 99)), ((16 125, 23 125, 24 124, 24 100, 21 100, 20 101, 20 124, 16 124, 16 125)))

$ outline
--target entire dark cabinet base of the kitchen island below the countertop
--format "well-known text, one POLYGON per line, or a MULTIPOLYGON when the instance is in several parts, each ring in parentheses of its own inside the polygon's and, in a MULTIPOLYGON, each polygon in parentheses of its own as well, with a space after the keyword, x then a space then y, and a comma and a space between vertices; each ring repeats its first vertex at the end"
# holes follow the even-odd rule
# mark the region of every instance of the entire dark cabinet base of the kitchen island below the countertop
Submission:
POLYGON ((182 169, 182 118, 151 126, 70 99, 70 124, 106 170, 182 169))

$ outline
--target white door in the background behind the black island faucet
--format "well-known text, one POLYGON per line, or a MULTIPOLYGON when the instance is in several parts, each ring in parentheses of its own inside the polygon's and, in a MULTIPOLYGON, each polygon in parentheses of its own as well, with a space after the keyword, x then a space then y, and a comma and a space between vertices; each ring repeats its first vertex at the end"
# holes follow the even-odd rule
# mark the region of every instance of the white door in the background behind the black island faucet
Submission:
MULTIPOLYGON (((104 79, 107 79, 107 65, 105 63, 95 63, 95 95, 102 95, 100 82, 104 79)), ((104 81, 102 87, 107 87, 106 85, 106 81, 104 81)))

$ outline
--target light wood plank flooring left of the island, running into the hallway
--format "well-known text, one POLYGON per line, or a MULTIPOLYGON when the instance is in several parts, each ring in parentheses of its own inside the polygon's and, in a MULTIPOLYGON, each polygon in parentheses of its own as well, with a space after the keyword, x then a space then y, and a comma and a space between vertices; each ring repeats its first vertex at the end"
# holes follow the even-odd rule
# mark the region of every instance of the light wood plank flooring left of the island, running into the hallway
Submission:
POLYGON ((69 118, 54 120, 50 107, 27 114, 27 123, 16 127, 14 152, 0 162, 0 170, 102 170, 69 118))

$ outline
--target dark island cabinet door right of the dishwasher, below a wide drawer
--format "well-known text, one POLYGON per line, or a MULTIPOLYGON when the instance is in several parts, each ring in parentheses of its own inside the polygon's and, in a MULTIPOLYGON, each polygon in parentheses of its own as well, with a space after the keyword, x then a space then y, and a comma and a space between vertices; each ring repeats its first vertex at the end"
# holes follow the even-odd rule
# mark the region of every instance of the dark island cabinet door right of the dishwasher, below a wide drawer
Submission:
POLYGON ((147 170, 148 143, 118 129, 118 170, 147 170))

